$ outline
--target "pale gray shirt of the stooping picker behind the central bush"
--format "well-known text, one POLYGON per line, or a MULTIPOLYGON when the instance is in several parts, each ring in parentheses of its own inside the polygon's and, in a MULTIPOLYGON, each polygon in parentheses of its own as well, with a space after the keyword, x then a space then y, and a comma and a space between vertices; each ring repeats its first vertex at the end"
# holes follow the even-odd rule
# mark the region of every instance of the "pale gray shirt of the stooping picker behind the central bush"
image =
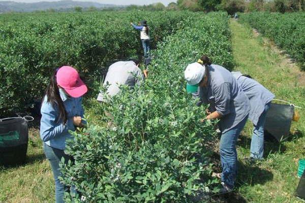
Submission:
MULTIPOLYGON (((107 94, 114 96, 119 92, 120 85, 128 85, 133 87, 144 81, 144 75, 141 69, 133 61, 118 61, 109 66, 104 86, 107 86, 107 94)), ((106 101, 104 93, 100 92, 98 101, 106 101)))

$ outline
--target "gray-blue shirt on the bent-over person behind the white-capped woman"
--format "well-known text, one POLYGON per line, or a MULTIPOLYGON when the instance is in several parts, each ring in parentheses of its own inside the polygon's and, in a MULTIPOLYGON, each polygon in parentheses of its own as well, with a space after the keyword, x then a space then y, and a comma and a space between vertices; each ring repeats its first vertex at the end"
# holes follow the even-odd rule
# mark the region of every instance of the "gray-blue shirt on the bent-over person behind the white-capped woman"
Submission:
POLYGON ((254 125, 257 125, 258 119, 265 109, 265 105, 268 104, 275 95, 257 81, 242 76, 240 72, 232 72, 232 75, 237 79, 242 91, 245 92, 249 98, 251 107, 249 119, 254 125))

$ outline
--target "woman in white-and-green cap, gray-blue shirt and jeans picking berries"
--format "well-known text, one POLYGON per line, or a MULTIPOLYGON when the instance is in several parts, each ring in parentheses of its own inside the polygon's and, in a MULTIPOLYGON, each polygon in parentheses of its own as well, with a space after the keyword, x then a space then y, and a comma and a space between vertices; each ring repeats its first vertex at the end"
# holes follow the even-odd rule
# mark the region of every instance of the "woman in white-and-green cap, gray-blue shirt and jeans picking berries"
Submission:
POLYGON ((196 92, 206 87, 210 113, 201 120, 220 119, 220 157, 222 164, 222 193, 233 190, 236 179, 236 142, 250 112, 249 99, 231 73, 220 65, 211 64, 207 56, 191 63, 185 70, 187 91, 196 92), (202 63, 202 64, 200 64, 202 63))

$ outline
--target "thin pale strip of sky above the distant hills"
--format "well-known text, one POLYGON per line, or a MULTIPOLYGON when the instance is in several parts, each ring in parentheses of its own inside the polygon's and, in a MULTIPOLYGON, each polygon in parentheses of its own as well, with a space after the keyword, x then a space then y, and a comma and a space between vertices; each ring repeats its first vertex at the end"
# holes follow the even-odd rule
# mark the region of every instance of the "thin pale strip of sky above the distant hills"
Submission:
MULTIPOLYGON (((34 2, 56 2, 57 0, 0 0, 0 2, 12 1, 12 2, 22 2, 22 3, 34 3, 34 2)), ((176 0, 73 0, 76 2, 97 2, 101 4, 116 4, 116 5, 148 5, 153 3, 161 2, 167 6, 171 2, 176 2, 176 0)))

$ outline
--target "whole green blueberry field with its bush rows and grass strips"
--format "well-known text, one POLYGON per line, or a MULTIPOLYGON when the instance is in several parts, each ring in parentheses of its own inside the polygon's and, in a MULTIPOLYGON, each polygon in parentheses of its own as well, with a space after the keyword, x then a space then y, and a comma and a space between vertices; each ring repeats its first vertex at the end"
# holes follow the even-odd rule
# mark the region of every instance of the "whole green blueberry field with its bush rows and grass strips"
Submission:
MULTIPOLYGON (((67 144, 66 152, 75 163, 62 165, 61 180, 75 186, 81 196, 67 193, 66 202, 296 202, 294 161, 304 156, 303 122, 294 129, 299 135, 291 135, 279 149, 267 143, 261 165, 243 160, 248 157, 252 134, 252 124, 246 126, 238 140, 235 191, 228 199, 209 196, 220 186, 211 177, 220 170, 220 160, 215 158, 219 138, 214 121, 200 122, 206 107, 198 107, 197 100, 187 94, 184 70, 207 54, 213 63, 229 70, 235 65, 235 71, 253 75, 278 98, 294 99, 303 107, 305 91, 299 85, 303 83, 296 81, 294 72, 283 71, 286 67, 278 65, 279 59, 269 49, 259 43, 253 46, 253 36, 247 32, 252 28, 245 25, 273 39, 305 70, 304 18, 304 13, 242 14, 240 21, 245 24, 231 20, 231 32, 223 12, 0 15, 0 118, 27 111, 43 97, 53 70, 71 65, 89 87, 83 100, 88 127, 73 132, 75 139, 67 144), (139 32, 130 26, 142 19, 148 21, 152 37, 148 78, 133 89, 123 87, 110 105, 99 103, 100 81, 109 64, 130 57, 142 59, 139 32), (241 56, 247 59, 240 60, 241 56)), ((30 130, 31 156, 27 154, 26 163, 0 167, 0 202, 54 201, 54 180, 38 128, 30 130), (15 195, 19 188, 24 192, 15 195)))

